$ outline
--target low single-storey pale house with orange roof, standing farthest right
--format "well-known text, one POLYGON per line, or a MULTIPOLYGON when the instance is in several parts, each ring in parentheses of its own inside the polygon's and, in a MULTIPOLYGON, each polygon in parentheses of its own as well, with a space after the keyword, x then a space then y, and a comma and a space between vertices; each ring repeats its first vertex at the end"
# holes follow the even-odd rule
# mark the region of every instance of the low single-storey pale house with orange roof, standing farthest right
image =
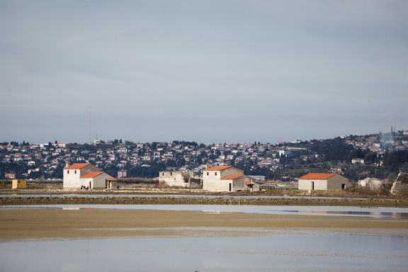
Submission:
POLYGON ((348 182, 339 174, 309 173, 299 178, 299 190, 344 190, 348 182))

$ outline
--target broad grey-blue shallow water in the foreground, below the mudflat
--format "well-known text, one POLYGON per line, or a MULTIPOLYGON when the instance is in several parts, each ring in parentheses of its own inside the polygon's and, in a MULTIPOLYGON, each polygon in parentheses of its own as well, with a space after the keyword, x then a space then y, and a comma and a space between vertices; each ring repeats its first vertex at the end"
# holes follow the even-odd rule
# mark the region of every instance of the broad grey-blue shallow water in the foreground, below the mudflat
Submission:
POLYGON ((0 243, 1 271, 407 271, 408 237, 279 234, 0 243))

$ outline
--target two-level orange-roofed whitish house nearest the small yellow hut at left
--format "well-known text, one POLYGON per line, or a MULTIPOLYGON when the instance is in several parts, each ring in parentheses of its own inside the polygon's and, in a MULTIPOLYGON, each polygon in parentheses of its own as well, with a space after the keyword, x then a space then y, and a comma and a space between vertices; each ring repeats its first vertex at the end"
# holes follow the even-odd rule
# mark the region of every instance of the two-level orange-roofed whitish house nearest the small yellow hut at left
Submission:
POLYGON ((117 188, 117 181, 92 164, 72 164, 65 167, 63 188, 74 189, 81 188, 81 186, 90 189, 113 189, 117 188))

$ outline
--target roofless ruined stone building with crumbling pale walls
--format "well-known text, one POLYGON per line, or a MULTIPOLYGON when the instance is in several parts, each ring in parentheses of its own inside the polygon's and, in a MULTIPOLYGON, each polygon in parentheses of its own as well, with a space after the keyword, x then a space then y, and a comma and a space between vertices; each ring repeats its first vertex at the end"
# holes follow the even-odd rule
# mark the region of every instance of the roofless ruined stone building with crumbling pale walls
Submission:
POLYGON ((160 171, 159 185, 201 188, 201 180, 193 171, 160 171))

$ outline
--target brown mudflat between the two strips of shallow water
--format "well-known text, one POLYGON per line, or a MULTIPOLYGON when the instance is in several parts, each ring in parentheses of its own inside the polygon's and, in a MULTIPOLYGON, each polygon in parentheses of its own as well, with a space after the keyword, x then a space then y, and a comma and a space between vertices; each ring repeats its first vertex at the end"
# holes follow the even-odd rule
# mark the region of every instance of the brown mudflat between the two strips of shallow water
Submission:
POLYGON ((322 229, 408 235, 408 220, 172 210, 0 210, 0 239, 259 236, 322 229), (259 230, 262 230, 260 232, 259 230), (235 231, 234 231, 235 230, 235 231))

